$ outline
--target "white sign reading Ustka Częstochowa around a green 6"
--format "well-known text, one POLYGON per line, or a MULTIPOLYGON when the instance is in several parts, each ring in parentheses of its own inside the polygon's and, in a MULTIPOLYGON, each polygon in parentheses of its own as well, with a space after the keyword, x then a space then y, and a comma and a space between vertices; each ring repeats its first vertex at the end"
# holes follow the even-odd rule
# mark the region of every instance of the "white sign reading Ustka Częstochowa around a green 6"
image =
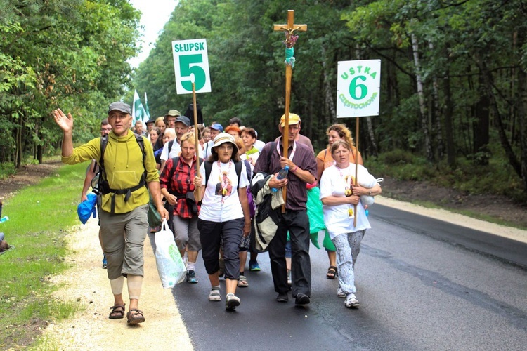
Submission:
POLYGON ((381 60, 338 62, 337 118, 379 115, 381 60))

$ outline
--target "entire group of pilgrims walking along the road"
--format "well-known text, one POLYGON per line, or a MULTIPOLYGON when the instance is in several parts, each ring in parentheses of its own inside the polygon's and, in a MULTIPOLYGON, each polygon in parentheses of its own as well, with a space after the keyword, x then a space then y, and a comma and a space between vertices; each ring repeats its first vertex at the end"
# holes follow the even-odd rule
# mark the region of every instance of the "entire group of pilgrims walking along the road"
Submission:
POLYGON ((185 258, 186 283, 203 282, 207 275, 211 289, 204 299, 224 300, 226 310, 235 310, 240 306, 236 289, 249 287, 245 270, 259 272, 258 253, 268 251, 275 300, 288 303, 291 296, 295 305, 308 305, 310 239, 318 241, 323 230, 329 260, 325 277, 338 279, 336 293, 346 307, 359 306, 354 267, 370 228, 367 206, 382 190, 344 124, 327 128, 327 148, 315 157, 311 140, 300 133, 298 114, 289 114, 287 126, 282 116, 278 131, 284 136, 263 143, 236 117, 225 128, 216 121, 195 126, 178 110, 169 110, 143 125, 133 122, 129 105, 112 102, 100 138, 79 147, 73 147, 72 115, 58 109, 53 117, 63 131, 63 162, 91 160, 81 201, 103 160, 105 174, 99 177, 108 187, 99 189, 97 209, 103 268, 114 296, 110 319, 145 322, 138 308, 143 245, 148 232, 160 230, 148 227, 150 198, 185 258), (101 138, 107 140, 104 148, 101 138), (287 138, 287 152, 282 138, 287 138), (282 169, 287 176, 278 177, 282 169), (256 213, 266 220, 256 223, 256 213), (200 251, 204 267, 197 264, 200 251), (128 311, 122 297, 125 278, 128 311))

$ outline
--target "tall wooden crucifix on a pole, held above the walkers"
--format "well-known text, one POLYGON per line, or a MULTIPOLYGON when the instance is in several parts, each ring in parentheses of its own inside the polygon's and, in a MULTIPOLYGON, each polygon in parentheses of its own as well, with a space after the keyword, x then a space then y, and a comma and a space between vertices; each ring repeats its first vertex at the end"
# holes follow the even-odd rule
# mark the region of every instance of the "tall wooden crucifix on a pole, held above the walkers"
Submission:
MULTIPOLYGON (((300 30, 305 32, 307 25, 295 25, 294 24, 294 10, 287 11, 287 25, 274 25, 274 30, 281 30, 286 32, 285 45, 287 48, 292 48, 294 42, 297 40, 293 36, 293 32, 300 30)), ((291 77, 292 77, 292 65, 285 65, 285 113, 284 113, 284 128, 282 129, 282 145, 284 147, 283 157, 287 158, 287 149, 289 148, 289 105, 291 99, 291 77)), ((286 187, 282 188, 282 194, 284 197, 284 205, 282 206, 282 213, 285 212, 285 200, 286 200, 286 187)))

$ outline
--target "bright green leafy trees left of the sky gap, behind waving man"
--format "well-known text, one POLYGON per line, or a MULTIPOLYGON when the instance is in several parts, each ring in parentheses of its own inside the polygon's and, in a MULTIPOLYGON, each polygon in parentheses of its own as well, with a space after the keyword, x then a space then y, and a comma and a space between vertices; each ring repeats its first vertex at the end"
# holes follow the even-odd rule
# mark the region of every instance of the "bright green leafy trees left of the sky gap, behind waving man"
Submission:
MULTIPOLYGON (((0 5, 6 1, 0 1, 0 5)), ((60 145, 51 118, 72 112, 79 140, 129 84, 139 13, 126 0, 16 0, 0 6, 0 162, 41 161, 60 145)), ((77 133, 74 135, 77 139, 77 133)))

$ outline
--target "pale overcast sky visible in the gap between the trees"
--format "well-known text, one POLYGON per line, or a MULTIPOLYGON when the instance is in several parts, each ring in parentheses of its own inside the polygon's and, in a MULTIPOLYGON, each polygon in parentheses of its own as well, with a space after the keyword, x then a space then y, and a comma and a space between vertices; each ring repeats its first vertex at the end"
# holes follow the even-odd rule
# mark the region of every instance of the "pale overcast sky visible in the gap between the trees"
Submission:
POLYGON ((157 36, 163 29, 164 24, 170 19, 170 15, 174 11, 174 8, 176 8, 178 1, 130 0, 130 3, 143 13, 140 22, 144 27, 143 36, 138 38, 138 41, 143 41, 141 44, 143 51, 136 58, 128 61, 132 67, 138 67, 139 63, 143 62, 145 58, 148 58, 150 49, 154 47, 157 36))

